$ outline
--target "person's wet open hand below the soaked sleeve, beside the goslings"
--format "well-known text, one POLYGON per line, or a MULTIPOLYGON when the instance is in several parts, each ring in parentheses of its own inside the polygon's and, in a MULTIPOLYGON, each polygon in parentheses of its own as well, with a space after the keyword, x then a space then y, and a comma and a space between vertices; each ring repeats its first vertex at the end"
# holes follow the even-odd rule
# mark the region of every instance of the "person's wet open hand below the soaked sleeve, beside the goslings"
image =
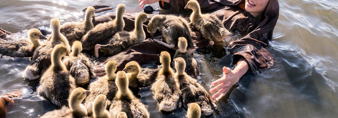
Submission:
POLYGON ((209 92, 212 93, 217 91, 212 98, 216 98, 216 101, 218 101, 241 77, 242 76, 239 77, 239 75, 230 68, 223 67, 223 77, 211 83, 211 86, 215 87, 210 89, 209 92))

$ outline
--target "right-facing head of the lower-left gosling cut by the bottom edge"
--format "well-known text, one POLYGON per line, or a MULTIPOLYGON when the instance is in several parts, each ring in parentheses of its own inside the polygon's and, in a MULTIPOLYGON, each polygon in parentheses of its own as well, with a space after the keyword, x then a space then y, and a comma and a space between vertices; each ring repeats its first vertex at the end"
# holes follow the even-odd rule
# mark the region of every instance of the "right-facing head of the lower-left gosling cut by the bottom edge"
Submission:
POLYGON ((69 99, 68 99, 68 104, 69 107, 74 110, 74 109, 78 109, 77 105, 81 104, 82 101, 86 98, 86 96, 90 93, 89 90, 85 90, 81 87, 75 88, 72 93, 70 93, 69 95, 69 99))

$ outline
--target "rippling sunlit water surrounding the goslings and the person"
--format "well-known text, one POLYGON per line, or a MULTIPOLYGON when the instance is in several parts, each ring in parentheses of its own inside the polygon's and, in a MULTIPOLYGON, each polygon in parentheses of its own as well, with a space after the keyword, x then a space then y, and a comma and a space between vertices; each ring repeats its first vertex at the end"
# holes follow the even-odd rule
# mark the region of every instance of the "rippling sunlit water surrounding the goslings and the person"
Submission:
MULTIPOLYGON (((217 106, 220 115, 211 117, 324 117, 338 116, 338 8, 335 0, 279 0, 280 16, 267 48, 275 59, 273 67, 245 74, 231 94, 217 106)), ((62 23, 83 19, 81 10, 92 5, 123 3, 127 11, 142 11, 137 0, 1 0, 0 28, 20 32, 49 25, 52 17, 62 23)), ((158 7, 158 5, 153 4, 158 7)), ((104 15, 103 12, 96 15, 104 15)), ((15 35, 25 37, 24 34, 15 35)), ((236 38, 234 38, 236 39, 236 38)), ((234 67, 226 44, 205 48, 195 58, 200 65, 198 81, 209 90, 221 77, 223 66, 234 67), (212 53, 211 53, 212 52, 212 53)), ((35 118, 54 107, 34 93, 37 82, 21 76, 28 58, 0 58, 0 94, 22 90, 23 96, 9 104, 7 118, 35 118)), ((140 91, 151 117, 185 117, 181 108, 162 115, 149 87, 140 91)))

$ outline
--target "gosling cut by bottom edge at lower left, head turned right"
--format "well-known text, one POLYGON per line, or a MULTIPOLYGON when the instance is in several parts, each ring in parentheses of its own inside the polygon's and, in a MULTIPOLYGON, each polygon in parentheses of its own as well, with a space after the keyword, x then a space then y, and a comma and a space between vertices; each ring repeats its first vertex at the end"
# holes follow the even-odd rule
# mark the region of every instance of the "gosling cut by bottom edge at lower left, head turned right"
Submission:
POLYGON ((87 117, 87 109, 81 104, 90 93, 83 88, 74 89, 68 99, 69 107, 63 106, 60 110, 47 112, 41 118, 82 118, 87 117))

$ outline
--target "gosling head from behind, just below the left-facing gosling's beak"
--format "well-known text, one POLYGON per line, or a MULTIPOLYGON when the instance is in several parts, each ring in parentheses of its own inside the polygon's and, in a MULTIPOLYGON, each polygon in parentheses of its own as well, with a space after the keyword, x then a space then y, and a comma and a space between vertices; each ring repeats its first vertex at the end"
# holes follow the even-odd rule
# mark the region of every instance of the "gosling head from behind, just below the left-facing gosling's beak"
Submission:
POLYGON ((127 94, 129 81, 124 71, 117 72, 115 83, 121 94, 127 94))

